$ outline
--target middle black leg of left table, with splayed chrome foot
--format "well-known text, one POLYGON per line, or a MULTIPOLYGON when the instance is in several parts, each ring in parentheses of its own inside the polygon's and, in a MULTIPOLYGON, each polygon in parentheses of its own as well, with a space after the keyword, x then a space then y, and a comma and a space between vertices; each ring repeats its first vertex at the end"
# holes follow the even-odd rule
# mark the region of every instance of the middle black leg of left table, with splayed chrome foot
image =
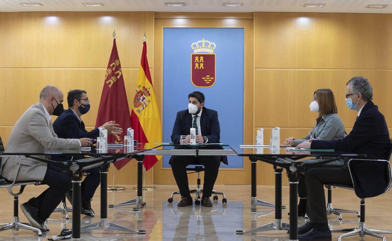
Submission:
MULTIPOLYGON (((145 234, 145 230, 134 230, 116 223, 107 221, 107 172, 109 169, 109 164, 104 164, 101 166, 101 221, 96 223, 91 223, 89 225, 83 226, 80 230, 93 230, 93 229, 111 229, 123 232, 131 232, 135 234, 145 234)), ((75 210, 75 208, 74 208, 75 210)), ((79 208, 80 211, 80 208, 79 208)), ((80 217, 79 217, 80 222, 80 217)))

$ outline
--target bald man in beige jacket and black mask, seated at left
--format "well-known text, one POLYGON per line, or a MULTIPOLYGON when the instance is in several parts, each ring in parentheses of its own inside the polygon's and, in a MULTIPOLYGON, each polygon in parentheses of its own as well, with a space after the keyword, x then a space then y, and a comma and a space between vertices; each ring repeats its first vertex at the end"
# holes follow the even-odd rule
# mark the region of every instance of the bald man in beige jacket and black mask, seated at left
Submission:
MULTIPOLYGON (((64 95, 57 87, 44 87, 40 93, 40 101, 31 105, 16 121, 4 153, 43 153, 48 149, 70 149, 91 145, 90 138, 62 139, 54 133, 51 115, 61 114, 64 110, 63 99, 64 95)), ((60 204, 65 193, 71 189, 71 179, 61 173, 60 168, 48 167, 45 162, 31 158, 21 158, 16 180, 39 180, 49 186, 38 197, 33 197, 20 205, 30 224, 45 232, 42 224, 60 204)), ((0 164, 2 177, 14 180, 18 164, 18 159, 4 157, 0 164)))

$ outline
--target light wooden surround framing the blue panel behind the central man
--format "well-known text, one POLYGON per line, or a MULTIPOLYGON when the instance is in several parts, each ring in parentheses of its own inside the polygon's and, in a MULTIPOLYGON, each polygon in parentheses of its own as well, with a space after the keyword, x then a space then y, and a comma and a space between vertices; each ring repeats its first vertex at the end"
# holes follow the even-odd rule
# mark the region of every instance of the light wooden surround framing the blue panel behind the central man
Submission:
MULTIPOLYGON (((231 19, 208 19, 214 13, 199 14, 199 18, 195 19, 194 13, 155 13, 155 45, 154 45, 154 89, 157 99, 162 104, 162 59, 163 59, 163 28, 164 27, 183 27, 183 28, 244 28, 245 29, 245 63, 244 63, 244 141, 251 142, 253 139, 253 20, 241 19, 243 16, 250 17, 250 14, 239 13, 238 18, 231 19), (172 16, 170 18, 170 16, 172 16)), ((216 14, 216 16, 224 14, 216 14)), ((162 107, 160 109, 162 113, 162 107)), ((162 114, 161 114, 162 116, 162 114)), ((203 176, 203 175, 202 175, 203 176)), ((196 183, 196 176, 189 177, 190 183, 196 183)), ((174 184, 173 174, 170 168, 162 168, 162 162, 158 162, 154 167, 154 183, 156 184, 174 184)), ((216 184, 250 184, 250 162, 244 161, 243 170, 225 170, 221 169, 216 184)))

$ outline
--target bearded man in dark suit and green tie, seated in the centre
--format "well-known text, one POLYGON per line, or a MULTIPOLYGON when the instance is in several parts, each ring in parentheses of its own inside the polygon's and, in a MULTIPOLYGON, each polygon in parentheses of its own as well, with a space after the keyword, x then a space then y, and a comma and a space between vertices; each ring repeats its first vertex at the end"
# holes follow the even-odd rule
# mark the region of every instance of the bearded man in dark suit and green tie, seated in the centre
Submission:
MULTIPOLYGON (((176 121, 174 122, 173 132, 171 135, 172 142, 180 143, 180 136, 187 135, 182 140, 183 143, 190 142, 190 130, 196 129, 197 143, 219 143, 220 127, 218 121, 218 112, 204 107, 204 95, 199 91, 192 92, 188 95, 189 105, 187 110, 177 112, 176 121)), ((189 146, 176 146, 174 149, 186 149, 189 146)), ((207 147, 212 149, 223 149, 221 146, 207 147)), ((174 179, 176 179, 178 189, 181 193, 181 201, 178 207, 192 205, 192 197, 189 192, 188 177, 186 167, 193 163, 200 163, 204 166, 204 184, 201 205, 212 207, 210 196, 218 177, 220 162, 227 164, 226 156, 172 156, 170 164, 174 179)))

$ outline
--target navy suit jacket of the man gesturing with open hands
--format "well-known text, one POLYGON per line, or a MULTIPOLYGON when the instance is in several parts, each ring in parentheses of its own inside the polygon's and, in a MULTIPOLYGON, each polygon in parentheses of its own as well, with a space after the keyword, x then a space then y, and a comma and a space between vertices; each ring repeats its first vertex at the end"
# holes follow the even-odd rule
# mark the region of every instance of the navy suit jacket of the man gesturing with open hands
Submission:
POLYGON ((99 136, 99 129, 96 128, 90 132, 85 129, 83 121, 80 122, 73 110, 67 109, 57 117, 53 122, 53 130, 60 138, 91 138, 96 139, 99 136))

